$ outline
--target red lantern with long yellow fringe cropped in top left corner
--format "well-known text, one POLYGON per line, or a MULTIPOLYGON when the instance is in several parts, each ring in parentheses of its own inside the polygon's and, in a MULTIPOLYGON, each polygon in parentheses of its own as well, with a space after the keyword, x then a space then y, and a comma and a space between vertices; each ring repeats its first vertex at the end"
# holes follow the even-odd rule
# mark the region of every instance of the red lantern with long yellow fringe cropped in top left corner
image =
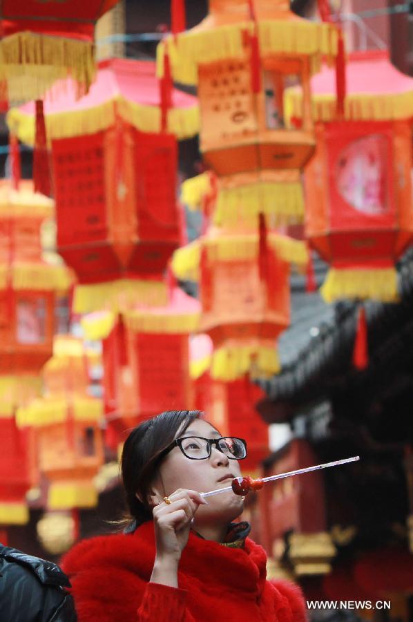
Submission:
POLYGON ((39 99, 70 75, 79 93, 95 75, 95 23, 119 0, 3 0, 1 2, 1 99, 39 99))

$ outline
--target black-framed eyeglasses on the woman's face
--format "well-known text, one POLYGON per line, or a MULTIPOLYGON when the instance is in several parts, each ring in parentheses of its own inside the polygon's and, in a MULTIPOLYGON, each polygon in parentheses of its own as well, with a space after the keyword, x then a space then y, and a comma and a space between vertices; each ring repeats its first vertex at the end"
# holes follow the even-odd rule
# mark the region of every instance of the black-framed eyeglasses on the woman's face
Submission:
POLYGON ((231 460, 244 460, 247 458, 247 441, 234 436, 222 436, 220 438, 204 438, 202 436, 185 436, 175 438, 170 445, 160 453, 160 458, 178 446, 186 458, 190 460, 206 460, 212 451, 212 446, 224 453, 231 460))

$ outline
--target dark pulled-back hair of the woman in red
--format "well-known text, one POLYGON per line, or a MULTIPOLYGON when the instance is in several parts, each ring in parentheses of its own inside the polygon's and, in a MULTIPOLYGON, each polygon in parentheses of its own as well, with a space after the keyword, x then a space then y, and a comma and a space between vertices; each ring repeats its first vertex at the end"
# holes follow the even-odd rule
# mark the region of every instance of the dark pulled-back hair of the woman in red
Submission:
POLYGON ((127 508, 123 521, 125 531, 133 531, 142 522, 152 520, 147 498, 160 454, 174 440, 178 430, 182 428, 184 432, 191 422, 202 415, 202 411, 165 411, 142 422, 128 435, 121 459, 127 508))

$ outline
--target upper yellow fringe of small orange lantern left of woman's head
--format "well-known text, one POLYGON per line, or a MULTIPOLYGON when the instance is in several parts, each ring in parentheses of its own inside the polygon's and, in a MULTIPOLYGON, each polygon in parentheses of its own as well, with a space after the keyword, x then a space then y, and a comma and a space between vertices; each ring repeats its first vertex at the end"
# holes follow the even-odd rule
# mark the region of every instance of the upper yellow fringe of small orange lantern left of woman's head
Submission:
POLYGON ((16 423, 19 428, 41 428, 66 422, 68 410, 72 409, 75 421, 98 422, 104 415, 103 402, 95 397, 73 397, 70 404, 64 397, 35 399, 29 406, 17 409, 16 423))

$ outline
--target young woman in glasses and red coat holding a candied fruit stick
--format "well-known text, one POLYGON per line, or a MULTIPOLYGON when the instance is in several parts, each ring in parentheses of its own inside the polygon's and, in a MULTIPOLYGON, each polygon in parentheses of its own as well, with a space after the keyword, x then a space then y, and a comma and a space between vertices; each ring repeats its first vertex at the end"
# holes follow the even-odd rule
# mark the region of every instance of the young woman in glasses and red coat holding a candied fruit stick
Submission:
POLYGON ((79 622, 303 622, 299 588, 266 581, 264 549, 232 523, 243 500, 227 487, 246 455, 199 411, 168 411, 137 426, 122 454, 130 522, 77 544, 62 567, 79 622))

